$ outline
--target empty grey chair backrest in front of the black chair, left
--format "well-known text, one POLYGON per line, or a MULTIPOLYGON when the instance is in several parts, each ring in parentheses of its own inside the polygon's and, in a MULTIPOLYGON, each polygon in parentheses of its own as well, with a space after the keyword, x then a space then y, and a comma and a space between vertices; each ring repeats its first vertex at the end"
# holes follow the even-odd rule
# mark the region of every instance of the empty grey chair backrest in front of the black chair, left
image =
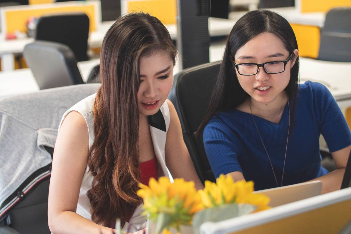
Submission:
POLYGON ((35 41, 25 46, 23 54, 40 89, 84 83, 77 59, 64 44, 35 41))

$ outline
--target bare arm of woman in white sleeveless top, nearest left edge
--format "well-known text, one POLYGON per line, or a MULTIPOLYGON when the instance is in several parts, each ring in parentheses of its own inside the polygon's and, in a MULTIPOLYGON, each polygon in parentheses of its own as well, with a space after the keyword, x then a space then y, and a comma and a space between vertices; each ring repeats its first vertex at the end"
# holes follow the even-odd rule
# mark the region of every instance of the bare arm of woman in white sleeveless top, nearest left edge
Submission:
POLYGON ((73 111, 62 123, 52 162, 48 222, 54 234, 113 233, 113 229, 100 226, 75 213, 88 151, 88 127, 84 117, 73 111))

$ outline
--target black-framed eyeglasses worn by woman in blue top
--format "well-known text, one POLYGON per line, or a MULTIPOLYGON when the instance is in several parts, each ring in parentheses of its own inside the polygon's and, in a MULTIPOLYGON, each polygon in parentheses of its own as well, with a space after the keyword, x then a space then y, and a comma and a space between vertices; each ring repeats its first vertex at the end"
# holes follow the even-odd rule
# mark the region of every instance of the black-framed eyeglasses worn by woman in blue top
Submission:
POLYGON ((233 63, 240 75, 256 75, 259 67, 263 67, 264 71, 267 74, 277 74, 285 71, 286 63, 289 62, 289 60, 291 59, 291 56, 292 56, 292 53, 290 54, 289 58, 287 58, 287 60, 285 61, 271 61, 271 62, 265 62, 261 64, 252 63, 252 62, 237 64, 234 62, 234 58, 233 58, 233 63))

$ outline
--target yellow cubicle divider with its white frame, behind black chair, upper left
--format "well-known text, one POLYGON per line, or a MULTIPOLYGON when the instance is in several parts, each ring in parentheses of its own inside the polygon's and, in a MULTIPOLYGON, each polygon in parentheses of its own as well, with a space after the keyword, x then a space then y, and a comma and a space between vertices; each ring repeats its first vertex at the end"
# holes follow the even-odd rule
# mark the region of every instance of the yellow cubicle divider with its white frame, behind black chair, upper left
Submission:
POLYGON ((90 21, 89 31, 97 30, 96 9, 99 7, 99 1, 76 1, 76 2, 60 2, 53 4, 25 5, 14 7, 3 7, 2 19, 5 19, 5 32, 13 33, 15 30, 27 32, 26 22, 30 17, 40 17, 44 14, 51 13, 68 13, 68 12, 84 12, 88 15, 90 21))

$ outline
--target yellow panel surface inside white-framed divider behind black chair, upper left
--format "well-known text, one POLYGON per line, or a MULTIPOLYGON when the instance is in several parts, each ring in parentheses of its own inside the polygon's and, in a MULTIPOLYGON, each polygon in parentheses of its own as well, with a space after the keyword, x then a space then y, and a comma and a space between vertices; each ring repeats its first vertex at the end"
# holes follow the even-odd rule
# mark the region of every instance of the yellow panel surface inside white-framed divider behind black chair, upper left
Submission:
POLYGON ((95 24, 95 5, 84 4, 84 2, 82 2, 77 6, 53 6, 47 8, 43 7, 40 9, 7 10, 5 11, 6 33, 13 33, 15 30, 27 32, 26 22, 30 17, 34 16, 39 18, 44 14, 67 12, 84 12, 89 17, 89 31, 91 32, 97 30, 97 26, 95 24))

